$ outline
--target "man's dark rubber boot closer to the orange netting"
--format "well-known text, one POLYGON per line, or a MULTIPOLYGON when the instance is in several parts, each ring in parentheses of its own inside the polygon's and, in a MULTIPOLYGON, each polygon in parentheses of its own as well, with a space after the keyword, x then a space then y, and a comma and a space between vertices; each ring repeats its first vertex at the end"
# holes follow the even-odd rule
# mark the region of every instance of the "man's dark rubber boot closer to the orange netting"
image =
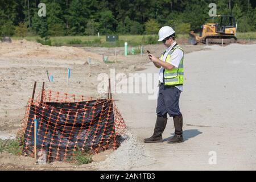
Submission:
POLYGON ((166 123, 167 123, 167 117, 158 116, 156 118, 154 134, 150 138, 145 138, 144 142, 145 143, 163 142, 162 133, 166 128, 166 123))

